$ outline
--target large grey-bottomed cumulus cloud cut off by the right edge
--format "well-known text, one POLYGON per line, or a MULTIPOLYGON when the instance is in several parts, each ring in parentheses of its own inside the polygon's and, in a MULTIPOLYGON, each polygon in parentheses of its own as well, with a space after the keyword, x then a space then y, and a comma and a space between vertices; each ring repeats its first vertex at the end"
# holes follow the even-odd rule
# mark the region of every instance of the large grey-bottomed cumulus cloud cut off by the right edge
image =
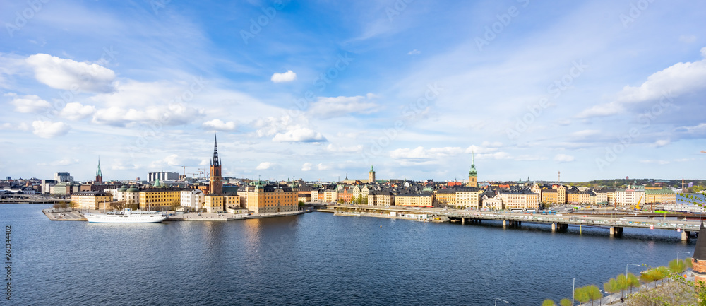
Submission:
POLYGON ((607 116, 626 110, 629 104, 672 98, 684 93, 692 93, 706 88, 706 47, 701 49, 705 59, 677 63, 668 68, 652 73, 640 86, 625 86, 617 94, 616 100, 604 105, 596 105, 583 110, 579 118, 607 116))

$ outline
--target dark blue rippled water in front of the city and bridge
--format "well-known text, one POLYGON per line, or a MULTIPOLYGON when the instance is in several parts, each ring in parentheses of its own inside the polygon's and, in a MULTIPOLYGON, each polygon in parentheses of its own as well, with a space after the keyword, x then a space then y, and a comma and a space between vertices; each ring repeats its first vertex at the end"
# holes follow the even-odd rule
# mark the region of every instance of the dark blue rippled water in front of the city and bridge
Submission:
POLYGON ((540 305, 570 298, 573 278, 602 288, 626 264, 665 265, 695 243, 666 230, 626 228, 610 238, 598 228, 551 233, 549 225, 330 213, 52 222, 41 213, 48 206, 0 205, 0 225, 12 228, 5 305, 540 305))

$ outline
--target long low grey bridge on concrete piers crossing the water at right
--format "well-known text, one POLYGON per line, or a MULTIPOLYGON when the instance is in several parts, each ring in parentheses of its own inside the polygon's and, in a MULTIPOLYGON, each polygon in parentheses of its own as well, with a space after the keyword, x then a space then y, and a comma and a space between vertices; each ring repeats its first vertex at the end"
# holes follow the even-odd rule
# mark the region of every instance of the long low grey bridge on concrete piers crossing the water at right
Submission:
POLYGON ((426 215, 431 219, 448 218, 450 222, 465 224, 480 223, 481 220, 498 220, 503 222, 503 227, 520 226, 522 223, 537 223, 551 225, 551 230, 566 230, 569 225, 608 228, 612 236, 621 235, 623 228, 648 228, 652 230, 679 230, 681 240, 688 240, 692 233, 698 233, 700 221, 686 220, 682 215, 671 215, 670 218, 663 214, 641 215, 577 215, 556 214, 543 215, 539 213, 509 213, 498 211, 465 211, 442 208, 411 208, 411 207, 381 207, 381 206, 356 206, 356 205, 329 205, 328 211, 338 212, 364 212, 377 213, 390 216, 391 212, 405 215, 426 215))

